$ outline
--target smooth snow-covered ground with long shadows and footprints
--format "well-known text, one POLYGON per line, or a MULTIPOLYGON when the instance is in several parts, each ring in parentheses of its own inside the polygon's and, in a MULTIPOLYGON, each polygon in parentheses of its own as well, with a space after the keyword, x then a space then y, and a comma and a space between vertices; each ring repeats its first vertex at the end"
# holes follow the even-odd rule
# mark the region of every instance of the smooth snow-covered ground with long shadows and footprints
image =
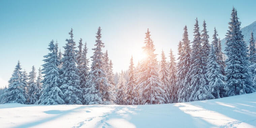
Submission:
POLYGON ((256 127, 256 93, 157 105, 0 104, 0 127, 256 127))

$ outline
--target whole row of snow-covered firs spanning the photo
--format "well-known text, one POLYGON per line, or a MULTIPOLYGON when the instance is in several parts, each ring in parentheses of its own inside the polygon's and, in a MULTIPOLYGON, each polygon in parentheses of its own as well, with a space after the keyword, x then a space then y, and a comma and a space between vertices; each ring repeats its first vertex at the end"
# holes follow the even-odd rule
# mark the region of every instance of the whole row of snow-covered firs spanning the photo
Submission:
POLYGON ((146 57, 127 72, 113 73, 107 51, 102 52, 101 28, 96 33, 92 64, 89 67, 87 43, 79 40, 78 50, 73 29, 66 39, 64 53, 58 42, 49 43, 42 69, 36 77, 35 67, 29 75, 21 71, 18 61, 1 103, 21 104, 163 104, 188 102, 241 95, 256 91, 256 49, 253 33, 250 45, 243 40, 237 11, 233 7, 222 53, 216 28, 209 42, 206 22, 200 31, 196 18, 194 39, 190 42, 187 26, 178 44, 178 62, 173 51, 169 61, 161 53, 157 61, 155 46, 147 30, 142 50, 146 57), (225 59, 226 58, 226 59, 225 59), (41 75, 43 74, 43 76, 41 75))

